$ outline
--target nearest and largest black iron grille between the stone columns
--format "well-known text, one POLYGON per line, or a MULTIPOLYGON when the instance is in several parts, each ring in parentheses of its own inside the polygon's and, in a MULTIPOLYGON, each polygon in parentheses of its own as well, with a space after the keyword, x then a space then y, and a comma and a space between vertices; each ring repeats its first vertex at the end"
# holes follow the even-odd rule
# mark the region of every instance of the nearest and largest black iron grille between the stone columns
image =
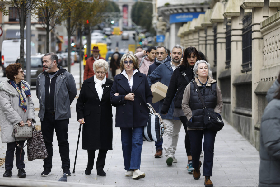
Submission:
POLYGON ((248 13, 242 19, 242 70, 252 70, 252 13, 248 13))

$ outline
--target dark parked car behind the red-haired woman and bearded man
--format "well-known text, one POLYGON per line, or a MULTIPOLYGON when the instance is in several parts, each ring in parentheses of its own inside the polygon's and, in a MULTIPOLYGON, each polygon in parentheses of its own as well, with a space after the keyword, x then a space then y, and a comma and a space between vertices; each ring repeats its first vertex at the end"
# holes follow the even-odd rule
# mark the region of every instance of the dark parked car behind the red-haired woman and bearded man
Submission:
MULTIPOLYGON (((44 66, 43 66, 43 54, 39 54, 39 55, 31 55, 31 71, 30 71, 30 75, 31 75, 31 86, 35 86, 36 85, 36 80, 37 77, 40 73, 42 73, 44 71, 44 66)), ((18 57, 18 59, 16 60, 16 63, 20 62, 20 58, 18 57)), ((24 63, 22 65, 22 69, 24 70, 25 73, 25 79, 26 79, 26 56, 24 57, 24 63)))

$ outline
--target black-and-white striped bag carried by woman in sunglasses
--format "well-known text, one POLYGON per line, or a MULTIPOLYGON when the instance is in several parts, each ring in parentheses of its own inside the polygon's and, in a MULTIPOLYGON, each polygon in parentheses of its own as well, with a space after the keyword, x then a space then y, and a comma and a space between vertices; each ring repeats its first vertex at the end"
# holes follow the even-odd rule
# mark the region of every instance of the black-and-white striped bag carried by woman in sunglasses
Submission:
POLYGON ((160 141, 166 128, 161 116, 156 113, 150 103, 147 103, 150 110, 150 116, 147 125, 144 127, 143 140, 146 141, 160 141))

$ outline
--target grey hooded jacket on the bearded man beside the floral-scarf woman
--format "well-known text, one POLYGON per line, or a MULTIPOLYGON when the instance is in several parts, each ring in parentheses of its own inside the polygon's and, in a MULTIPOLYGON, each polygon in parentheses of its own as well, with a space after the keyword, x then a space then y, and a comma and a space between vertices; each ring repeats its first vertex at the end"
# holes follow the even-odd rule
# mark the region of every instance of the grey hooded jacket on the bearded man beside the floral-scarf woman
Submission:
MULTIPOLYGON (((70 104, 77 95, 76 83, 71 73, 61 66, 58 68, 58 73, 54 76, 57 77, 54 91, 55 120, 69 119, 71 117, 70 104)), ((45 77, 49 79, 47 74, 45 71, 40 73, 36 82, 36 95, 40 107, 38 116, 41 121, 44 121, 45 115, 45 95, 49 94, 45 93, 45 77)))

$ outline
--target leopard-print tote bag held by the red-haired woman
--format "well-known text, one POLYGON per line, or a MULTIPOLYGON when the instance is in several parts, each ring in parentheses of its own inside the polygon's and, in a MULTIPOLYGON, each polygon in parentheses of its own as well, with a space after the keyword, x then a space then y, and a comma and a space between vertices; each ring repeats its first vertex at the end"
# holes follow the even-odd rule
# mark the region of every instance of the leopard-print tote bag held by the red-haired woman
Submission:
POLYGON ((48 157, 47 148, 43 139, 42 131, 37 131, 32 124, 33 135, 27 139, 27 159, 33 161, 35 159, 45 159, 48 157))

